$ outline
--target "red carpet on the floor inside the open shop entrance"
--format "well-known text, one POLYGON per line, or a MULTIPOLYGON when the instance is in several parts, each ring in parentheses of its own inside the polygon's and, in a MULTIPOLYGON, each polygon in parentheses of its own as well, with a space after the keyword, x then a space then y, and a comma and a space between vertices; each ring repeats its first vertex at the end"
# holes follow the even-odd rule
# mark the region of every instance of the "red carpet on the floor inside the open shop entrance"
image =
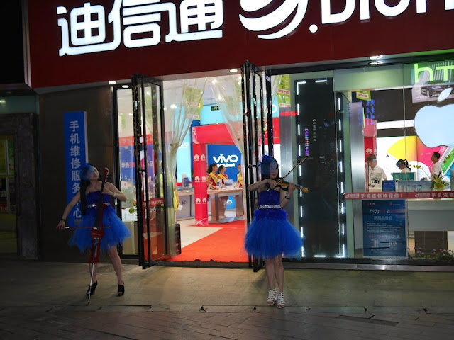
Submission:
POLYGON ((182 254, 169 261, 248 262, 244 250, 244 220, 229 223, 210 223, 220 227, 217 232, 182 248, 182 254))

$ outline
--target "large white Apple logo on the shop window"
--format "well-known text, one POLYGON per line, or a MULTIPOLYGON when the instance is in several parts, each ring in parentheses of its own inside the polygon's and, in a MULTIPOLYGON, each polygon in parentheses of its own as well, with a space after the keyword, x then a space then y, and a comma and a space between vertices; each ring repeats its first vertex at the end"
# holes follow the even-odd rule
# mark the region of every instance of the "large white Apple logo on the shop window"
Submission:
MULTIPOLYGON (((450 96, 453 89, 445 89, 438 96, 438 103, 450 96)), ((421 108, 414 118, 414 128, 423 145, 426 147, 454 147, 452 123, 454 104, 445 106, 428 105, 421 108)))

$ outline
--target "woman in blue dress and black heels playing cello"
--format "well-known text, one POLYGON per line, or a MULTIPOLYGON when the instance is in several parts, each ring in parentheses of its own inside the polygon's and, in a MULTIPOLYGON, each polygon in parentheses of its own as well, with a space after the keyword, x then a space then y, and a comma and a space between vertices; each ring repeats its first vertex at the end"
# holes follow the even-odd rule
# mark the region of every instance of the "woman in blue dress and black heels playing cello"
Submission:
MULTIPOLYGON (((95 225, 97 205, 99 203, 99 196, 102 195, 103 213, 102 225, 109 226, 104 228, 104 236, 101 238, 99 244, 100 248, 109 255, 112 265, 118 280, 117 295, 121 296, 125 293, 125 286, 123 281, 123 273, 121 269, 121 259, 118 256, 116 249, 117 244, 123 244, 123 241, 131 237, 126 225, 116 215, 114 208, 110 205, 111 197, 121 201, 126 201, 126 195, 114 186, 114 184, 104 183, 104 190, 101 191, 101 181, 99 180, 99 172, 94 166, 90 164, 83 164, 80 170, 80 191, 72 198, 71 202, 63 211, 62 219, 57 225, 57 229, 64 229, 66 225, 67 216, 70 214, 74 205, 81 201, 82 221, 80 223, 82 228, 78 228, 72 234, 68 244, 77 246, 80 251, 91 249, 92 247, 92 227, 95 225), (88 227, 88 228, 87 228, 88 227)), ((98 263, 95 263, 93 270, 92 285, 87 290, 87 295, 93 295, 98 285, 96 280, 96 271, 98 263), (91 291, 90 291, 91 290, 91 291)), ((90 274, 92 273, 92 263, 89 263, 90 274)))

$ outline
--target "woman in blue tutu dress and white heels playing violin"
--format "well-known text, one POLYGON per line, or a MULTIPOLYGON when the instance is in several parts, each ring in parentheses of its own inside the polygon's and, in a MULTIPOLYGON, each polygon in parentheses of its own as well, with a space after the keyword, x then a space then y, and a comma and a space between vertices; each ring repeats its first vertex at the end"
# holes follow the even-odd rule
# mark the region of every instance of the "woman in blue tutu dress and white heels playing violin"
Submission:
POLYGON ((269 285, 267 305, 275 305, 277 301, 277 308, 282 308, 285 306, 282 254, 299 254, 302 247, 301 234, 282 209, 292 199, 296 186, 289 183, 287 191, 277 186, 279 167, 273 157, 263 156, 259 166, 262 180, 248 186, 248 191, 258 191, 258 210, 248 227, 245 249, 248 254, 265 259, 269 285), (275 280, 279 291, 276 291, 275 280))

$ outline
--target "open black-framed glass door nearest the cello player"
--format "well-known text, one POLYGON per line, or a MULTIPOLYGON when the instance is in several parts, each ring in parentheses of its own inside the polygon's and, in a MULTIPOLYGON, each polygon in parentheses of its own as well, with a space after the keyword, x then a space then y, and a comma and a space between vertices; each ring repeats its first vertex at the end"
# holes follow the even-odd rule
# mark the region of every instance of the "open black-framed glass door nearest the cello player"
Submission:
POLYGON ((135 74, 132 84, 138 252, 145 268, 168 254, 164 110, 161 81, 135 74))

